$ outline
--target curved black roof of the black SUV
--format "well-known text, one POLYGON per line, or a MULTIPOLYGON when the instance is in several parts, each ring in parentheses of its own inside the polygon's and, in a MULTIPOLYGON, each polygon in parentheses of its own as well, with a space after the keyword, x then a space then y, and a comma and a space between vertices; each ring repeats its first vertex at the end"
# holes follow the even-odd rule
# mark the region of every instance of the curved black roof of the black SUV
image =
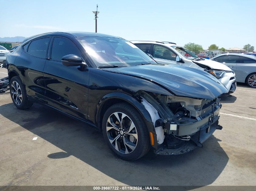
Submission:
MULTIPOLYGON (((36 34, 31 37, 25 38, 22 43, 31 40, 32 38, 44 36, 44 35, 63 35, 63 34, 69 34, 73 37, 110 37, 110 38, 121 38, 121 37, 115 37, 108 34, 101 34, 101 33, 91 33, 91 32, 48 32, 48 33, 42 33, 42 34, 36 34)), ((21 43, 21 44, 22 44, 21 43)))

